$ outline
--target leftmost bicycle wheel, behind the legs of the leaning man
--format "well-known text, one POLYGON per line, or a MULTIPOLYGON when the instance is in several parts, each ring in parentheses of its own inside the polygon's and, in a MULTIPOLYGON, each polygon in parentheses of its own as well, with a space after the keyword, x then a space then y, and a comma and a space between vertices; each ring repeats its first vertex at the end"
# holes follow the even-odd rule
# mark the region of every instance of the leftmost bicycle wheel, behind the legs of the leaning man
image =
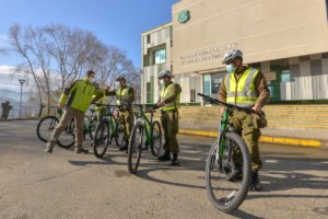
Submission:
POLYGON ((50 139, 58 123, 59 119, 55 116, 46 116, 43 119, 40 119, 36 126, 37 137, 42 141, 47 142, 50 139))

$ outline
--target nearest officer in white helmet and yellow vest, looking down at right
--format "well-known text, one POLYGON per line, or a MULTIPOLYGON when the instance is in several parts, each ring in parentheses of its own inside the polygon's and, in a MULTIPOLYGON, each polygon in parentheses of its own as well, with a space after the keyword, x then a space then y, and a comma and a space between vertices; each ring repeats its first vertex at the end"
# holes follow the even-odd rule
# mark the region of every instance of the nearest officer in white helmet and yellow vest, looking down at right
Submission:
MULTIPOLYGON (((262 168, 258 140, 260 129, 266 123, 262 115, 262 107, 270 100, 265 76, 255 68, 243 65, 243 53, 233 49, 224 55, 222 64, 226 65, 227 74, 220 85, 219 100, 243 107, 251 107, 255 114, 249 115, 243 111, 234 110, 230 116, 237 132, 243 135, 251 155, 251 191, 260 191, 258 171, 262 168)), ((221 113, 224 112, 221 107, 221 113)))

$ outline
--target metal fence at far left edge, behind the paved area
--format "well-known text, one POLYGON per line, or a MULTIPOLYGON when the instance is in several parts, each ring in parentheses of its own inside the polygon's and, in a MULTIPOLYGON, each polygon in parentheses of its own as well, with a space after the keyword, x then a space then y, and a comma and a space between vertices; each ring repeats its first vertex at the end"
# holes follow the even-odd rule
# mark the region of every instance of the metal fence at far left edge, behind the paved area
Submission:
MULTIPOLYGON (((9 111, 7 119, 20 119, 20 118, 37 118, 39 106, 12 106, 9 111)), ((0 107, 0 119, 2 115, 2 108, 0 107)))

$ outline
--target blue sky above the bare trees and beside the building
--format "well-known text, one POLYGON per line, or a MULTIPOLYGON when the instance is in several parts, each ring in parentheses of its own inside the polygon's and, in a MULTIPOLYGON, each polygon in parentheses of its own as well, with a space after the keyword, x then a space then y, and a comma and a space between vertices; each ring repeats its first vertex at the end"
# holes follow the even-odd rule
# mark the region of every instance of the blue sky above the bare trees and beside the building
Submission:
MULTIPOLYGON (((141 34, 171 22, 172 5, 178 1, 0 0, 0 47, 7 45, 9 28, 14 23, 22 26, 65 24, 90 31, 104 44, 122 49, 140 68, 141 34)), ((0 67, 15 64, 16 57, 0 55, 0 67)), ((1 78, 0 71, 0 80, 3 80, 1 78)))

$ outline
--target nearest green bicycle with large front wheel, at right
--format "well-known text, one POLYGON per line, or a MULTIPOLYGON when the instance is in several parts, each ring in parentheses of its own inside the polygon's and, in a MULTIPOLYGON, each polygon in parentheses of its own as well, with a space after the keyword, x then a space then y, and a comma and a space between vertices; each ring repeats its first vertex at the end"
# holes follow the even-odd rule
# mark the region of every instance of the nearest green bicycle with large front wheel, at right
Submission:
POLYGON ((212 104, 225 105, 219 125, 219 136, 212 145, 206 164, 207 192, 215 208, 230 212, 244 201, 250 185, 251 160, 243 138, 235 132, 229 115, 233 110, 251 114, 250 108, 221 102, 208 95, 198 93, 212 104))

